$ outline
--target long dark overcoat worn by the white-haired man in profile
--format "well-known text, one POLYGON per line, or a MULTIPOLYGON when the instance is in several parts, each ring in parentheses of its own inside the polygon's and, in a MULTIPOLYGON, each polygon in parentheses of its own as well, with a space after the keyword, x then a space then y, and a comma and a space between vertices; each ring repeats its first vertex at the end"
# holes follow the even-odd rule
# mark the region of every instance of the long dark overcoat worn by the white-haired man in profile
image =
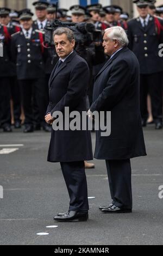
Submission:
POLYGON ((91 111, 111 111, 111 135, 97 131, 96 159, 130 159, 146 155, 140 117, 140 71, 127 47, 117 52, 96 76, 91 111))

